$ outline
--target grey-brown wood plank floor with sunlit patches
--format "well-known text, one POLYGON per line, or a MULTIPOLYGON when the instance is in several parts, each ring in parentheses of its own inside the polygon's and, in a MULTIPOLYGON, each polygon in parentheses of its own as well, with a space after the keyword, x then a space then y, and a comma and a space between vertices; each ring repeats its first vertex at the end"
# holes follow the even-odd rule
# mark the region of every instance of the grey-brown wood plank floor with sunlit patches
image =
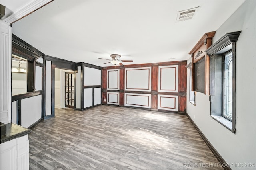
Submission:
POLYGON ((219 162, 186 115, 100 105, 55 116, 29 134, 31 170, 223 169, 207 167, 219 162))

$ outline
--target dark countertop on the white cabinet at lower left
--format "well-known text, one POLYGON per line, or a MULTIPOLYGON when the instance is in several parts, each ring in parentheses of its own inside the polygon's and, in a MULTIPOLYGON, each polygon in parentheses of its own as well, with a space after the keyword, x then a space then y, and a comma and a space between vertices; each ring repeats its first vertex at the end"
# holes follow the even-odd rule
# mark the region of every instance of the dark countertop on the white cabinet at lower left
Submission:
POLYGON ((6 135, 1 136, 1 143, 10 141, 17 137, 22 137, 30 133, 31 130, 25 127, 21 127, 20 125, 16 125, 13 123, 6 124, 6 135))

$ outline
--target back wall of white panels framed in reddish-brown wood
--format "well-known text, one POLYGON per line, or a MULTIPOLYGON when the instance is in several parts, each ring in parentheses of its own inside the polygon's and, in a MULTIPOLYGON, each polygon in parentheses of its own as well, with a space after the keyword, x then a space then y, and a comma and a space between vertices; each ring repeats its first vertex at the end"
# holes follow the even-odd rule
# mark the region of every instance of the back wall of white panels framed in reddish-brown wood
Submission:
POLYGON ((103 68, 102 104, 184 114, 185 66, 186 61, 175 61, 103 68))

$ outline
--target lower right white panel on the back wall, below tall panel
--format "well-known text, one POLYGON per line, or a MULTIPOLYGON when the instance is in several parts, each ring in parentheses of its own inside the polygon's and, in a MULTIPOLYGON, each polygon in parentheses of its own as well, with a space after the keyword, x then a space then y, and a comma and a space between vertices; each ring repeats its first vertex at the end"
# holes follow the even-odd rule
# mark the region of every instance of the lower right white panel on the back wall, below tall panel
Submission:
POLYGON ((178 111, 178 96, 158 95, 158 109, 178 111))

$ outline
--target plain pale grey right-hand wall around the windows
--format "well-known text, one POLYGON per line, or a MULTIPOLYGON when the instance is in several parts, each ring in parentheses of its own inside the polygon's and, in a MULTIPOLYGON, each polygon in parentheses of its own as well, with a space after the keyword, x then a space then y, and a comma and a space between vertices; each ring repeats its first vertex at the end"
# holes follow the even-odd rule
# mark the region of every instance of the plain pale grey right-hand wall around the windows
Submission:
MULTIPOLYGON (((213 37, 215 43, 228 32, 242 31, 236 45, 236 133, 232 133, 210 117, 209 96, 197 92, 196 106, 187 100, 188 115, 222 158, 227 163, 234 163, 232 169, 244 169, 235 166, 235 163, 256 164, 255 7, 255 0, 246 0, 213 37)), ((187 82, 189 83, 189 76, 187 82)), ((187 91, 189 92, 189 89, 187 91)))

